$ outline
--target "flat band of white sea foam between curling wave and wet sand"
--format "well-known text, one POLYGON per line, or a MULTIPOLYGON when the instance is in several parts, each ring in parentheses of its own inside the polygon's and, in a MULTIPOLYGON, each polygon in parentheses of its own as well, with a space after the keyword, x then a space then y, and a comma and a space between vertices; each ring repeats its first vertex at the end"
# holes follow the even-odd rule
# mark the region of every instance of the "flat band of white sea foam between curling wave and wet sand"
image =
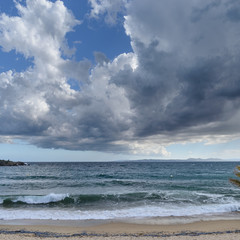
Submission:
POLYGON ((240 210, 240 203, 212 204, 201 206, 142 206, 118 210, 63 210, 63 209, 0 209, 0 219, 43 219, 43 220, 107 220, 149 217, 189 217, 215 215, 240 210))

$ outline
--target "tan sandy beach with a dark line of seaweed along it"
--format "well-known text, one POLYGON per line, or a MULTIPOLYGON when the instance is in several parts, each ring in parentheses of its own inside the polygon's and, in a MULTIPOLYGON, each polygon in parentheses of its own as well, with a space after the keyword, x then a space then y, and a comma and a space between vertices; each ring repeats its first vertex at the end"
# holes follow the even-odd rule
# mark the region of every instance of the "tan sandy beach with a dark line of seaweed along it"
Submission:
MULTIPOLYGON (((2 223, 1 223, 2 224, 2 223)), ((0 240, 36 239, 168 239, 168 240, 236 240, 240 239, 240 220, 199 221, 188 224, 147 225, 123 222, 90 224, 45 221, 38 225, 0 226, 0 240), (71 226, 72 225, 72 226, 71 226)))

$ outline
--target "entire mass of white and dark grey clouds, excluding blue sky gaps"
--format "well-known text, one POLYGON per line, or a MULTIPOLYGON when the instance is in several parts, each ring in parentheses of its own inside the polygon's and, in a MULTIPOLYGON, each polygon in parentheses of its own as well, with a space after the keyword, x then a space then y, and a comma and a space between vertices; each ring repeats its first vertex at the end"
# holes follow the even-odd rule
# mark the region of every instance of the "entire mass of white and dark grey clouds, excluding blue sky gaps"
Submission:
POLYGON ((19 18, 0 19, 3 49, 34 62, 0 75, 2 136, 44 148, 143 152, 239 134, 239 1, 91 1, 94 17, 116 16, 125 5, 133 48, 112 61, 95 52, 96 66, 62 58, 61 49, 71 52, 66 33, 80 24, 63 3, 34 2, 22 12, 18 5, 19 18))

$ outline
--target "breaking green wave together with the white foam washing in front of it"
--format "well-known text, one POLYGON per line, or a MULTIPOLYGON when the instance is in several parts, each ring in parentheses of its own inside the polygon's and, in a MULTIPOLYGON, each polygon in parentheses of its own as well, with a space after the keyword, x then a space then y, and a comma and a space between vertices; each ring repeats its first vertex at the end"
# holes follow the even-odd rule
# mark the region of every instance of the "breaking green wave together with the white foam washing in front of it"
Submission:
POLYGON ((122 194, 55 194, 0 196, 0 219, 107 220, 191 217, 240 210, 240 202, 221 194, 133 192, 122 194), (57 207, 57 208, 56 208, 57 207))

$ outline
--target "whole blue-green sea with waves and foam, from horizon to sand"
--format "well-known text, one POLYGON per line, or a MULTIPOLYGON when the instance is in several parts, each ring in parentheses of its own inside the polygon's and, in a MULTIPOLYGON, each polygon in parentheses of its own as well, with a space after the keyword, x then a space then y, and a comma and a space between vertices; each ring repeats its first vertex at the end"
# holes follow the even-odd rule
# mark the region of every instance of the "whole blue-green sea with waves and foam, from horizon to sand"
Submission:
POLYGON ((0 167, 0 220, 240 219, 237 162, 42 162, 0 167))

